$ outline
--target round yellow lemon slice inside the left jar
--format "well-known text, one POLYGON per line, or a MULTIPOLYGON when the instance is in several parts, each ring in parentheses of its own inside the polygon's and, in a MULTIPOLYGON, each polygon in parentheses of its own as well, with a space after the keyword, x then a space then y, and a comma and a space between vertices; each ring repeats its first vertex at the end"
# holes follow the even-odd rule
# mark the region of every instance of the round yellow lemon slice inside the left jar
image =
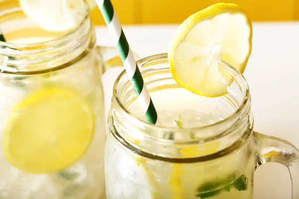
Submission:
POLYGON ((3 135, 7 161, 27 173, 59 172, 88 149, 94 115, 75 91, 48 88, 19 102, 3 135))

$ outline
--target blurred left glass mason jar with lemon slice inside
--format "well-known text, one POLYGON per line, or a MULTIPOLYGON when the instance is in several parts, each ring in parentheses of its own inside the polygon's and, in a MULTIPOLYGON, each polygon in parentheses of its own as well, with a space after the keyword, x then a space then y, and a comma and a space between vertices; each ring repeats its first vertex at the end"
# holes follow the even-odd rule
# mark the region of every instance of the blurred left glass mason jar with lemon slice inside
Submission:
POLYGON ((58 33, 0 1, 0 199, 105 198, 101 74, 120 62, 85 9, 58 33))

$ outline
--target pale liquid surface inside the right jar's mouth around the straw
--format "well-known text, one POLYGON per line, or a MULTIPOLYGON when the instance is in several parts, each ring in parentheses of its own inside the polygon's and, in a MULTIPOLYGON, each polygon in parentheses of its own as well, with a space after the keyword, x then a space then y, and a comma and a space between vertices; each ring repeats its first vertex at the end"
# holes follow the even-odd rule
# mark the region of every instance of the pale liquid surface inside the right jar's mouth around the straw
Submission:
MULTIPOLYGON (((152 92, 150 97, 164 127, 176 127, 180 118, 184 128, 205 126, 219 122, 235 111, 224 98, 205 98, 182 88, 152 92)), ((128 109, 146 121, 138 100, 133 101, 128 109)))

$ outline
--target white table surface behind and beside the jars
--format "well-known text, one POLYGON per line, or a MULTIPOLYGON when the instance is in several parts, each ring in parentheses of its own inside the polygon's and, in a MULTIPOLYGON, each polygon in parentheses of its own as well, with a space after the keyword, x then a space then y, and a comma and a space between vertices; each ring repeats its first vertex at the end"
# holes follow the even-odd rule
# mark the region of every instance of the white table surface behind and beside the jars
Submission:
MULTIPOLYGON (((177 27, 123 29, 132 50, 146 57, 166 52, 177 27)), ((96 33, 98 44, 113 46, 105 26, 96 27, 96 33)), ((299 22, 254 23, 252 46, 244 76, 252 95, 255 130, 291 141, 299 148, 299 22)), ((111 99, 111 86, 121 71, 116 68, 105 74, 105 100, 111 99)), ((261 166, 256 171, 254 189, 254 199, 291 199, 288 170, 275 163, 261 166)))

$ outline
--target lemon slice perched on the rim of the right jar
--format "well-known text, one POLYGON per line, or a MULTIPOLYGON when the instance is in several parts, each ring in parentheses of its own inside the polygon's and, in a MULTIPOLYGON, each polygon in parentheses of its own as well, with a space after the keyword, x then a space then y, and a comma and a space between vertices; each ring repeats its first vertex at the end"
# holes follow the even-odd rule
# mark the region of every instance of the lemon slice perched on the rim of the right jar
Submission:
POLYGON ((252 24, 233 3, 216 3, 189 16, 168 50, 171 74, 187 90, 205 97, 227 94, 219 59, 244 72, 251 53, 252 24))

